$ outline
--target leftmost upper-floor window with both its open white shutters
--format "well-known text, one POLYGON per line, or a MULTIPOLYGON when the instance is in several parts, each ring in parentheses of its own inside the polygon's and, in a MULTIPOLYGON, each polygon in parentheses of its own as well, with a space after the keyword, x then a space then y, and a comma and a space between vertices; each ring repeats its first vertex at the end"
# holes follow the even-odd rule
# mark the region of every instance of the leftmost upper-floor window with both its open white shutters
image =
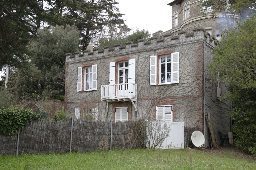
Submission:
POLYGON ((82 77, 84 76, 84 91, 97 90, 97 67, 98 65, 92 65, 77 68, 77 91, 82 91, 82 77))

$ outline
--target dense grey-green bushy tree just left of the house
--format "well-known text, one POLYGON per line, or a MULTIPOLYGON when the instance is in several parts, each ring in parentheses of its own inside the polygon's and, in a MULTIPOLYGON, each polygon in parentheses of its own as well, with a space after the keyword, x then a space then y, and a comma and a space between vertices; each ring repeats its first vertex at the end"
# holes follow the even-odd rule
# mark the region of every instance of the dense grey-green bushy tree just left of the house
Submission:
POLYGON ((78 51, 76 27, 38 30, 29 45, 29 63, 10 71, 8 89, 16 101, 61 99, 65 89, 65 54, 78 51))

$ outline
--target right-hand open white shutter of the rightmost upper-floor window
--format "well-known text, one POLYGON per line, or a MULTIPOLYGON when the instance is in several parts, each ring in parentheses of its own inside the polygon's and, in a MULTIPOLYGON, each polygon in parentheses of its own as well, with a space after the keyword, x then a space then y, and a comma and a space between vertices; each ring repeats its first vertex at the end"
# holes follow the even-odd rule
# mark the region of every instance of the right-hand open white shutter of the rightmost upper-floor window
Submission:
POLYGON ((179 52, 172 53, 172 83, 179 83, 179 52))

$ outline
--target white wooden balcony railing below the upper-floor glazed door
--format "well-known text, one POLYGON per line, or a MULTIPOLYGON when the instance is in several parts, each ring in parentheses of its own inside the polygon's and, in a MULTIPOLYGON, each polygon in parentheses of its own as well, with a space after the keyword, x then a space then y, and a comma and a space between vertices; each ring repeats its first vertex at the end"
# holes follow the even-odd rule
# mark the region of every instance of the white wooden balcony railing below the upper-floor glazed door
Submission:
POLYGON ((101 85, 101 100, 137 99, 137 84, 109 84, 101 85))

